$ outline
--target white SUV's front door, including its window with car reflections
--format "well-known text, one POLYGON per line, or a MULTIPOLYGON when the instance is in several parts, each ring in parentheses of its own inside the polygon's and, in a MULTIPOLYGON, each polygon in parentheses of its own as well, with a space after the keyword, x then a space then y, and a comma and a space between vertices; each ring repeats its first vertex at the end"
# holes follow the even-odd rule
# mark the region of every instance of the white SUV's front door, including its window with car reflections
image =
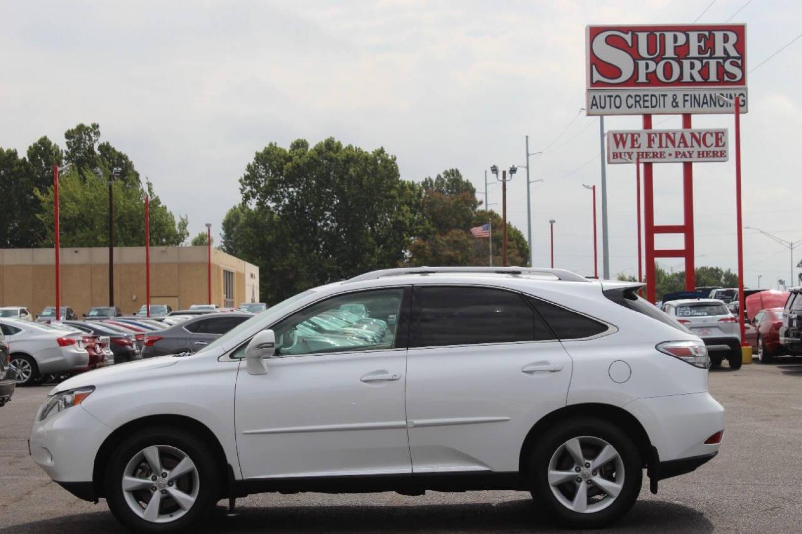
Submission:
POLYGON ((234 419, 245 478, 411 472, 404 413, 410 298, 403 287, 340 294, 272 327, 277 354, 267 374, 249 374, 243 363, 237 377, 234 419), (310 322, 354 303, 386 328, 365 338, 310 322))

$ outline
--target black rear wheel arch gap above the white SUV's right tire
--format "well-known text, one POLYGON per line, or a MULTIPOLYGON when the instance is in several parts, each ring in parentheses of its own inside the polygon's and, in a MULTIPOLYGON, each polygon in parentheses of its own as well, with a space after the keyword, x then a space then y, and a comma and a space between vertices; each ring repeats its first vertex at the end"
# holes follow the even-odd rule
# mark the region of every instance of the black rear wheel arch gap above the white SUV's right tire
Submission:
POLYGON ((638 419, 623 408, 615 407, 610 404, 585 403, 562 407, 559 410, 551 412, 549 415, 545 415, 541 420, 535 423, 535 426, 532 427, 526 435, 523 446, 520 447, 520 458, 518 459, 518 469, 520 473, 525 474, 527 472, 529 457, 537 444, 538 436, 543 435, 555 424, 562 423, 566 419, 574 418, 602 419, 603 421, 620 427, 632 438, 635 447, 638 447, 638 452, 643 459, 644 467, 648 467, 650 459, 653 456, 652 444, 649 435, 646 434, 646 430, 638 419))

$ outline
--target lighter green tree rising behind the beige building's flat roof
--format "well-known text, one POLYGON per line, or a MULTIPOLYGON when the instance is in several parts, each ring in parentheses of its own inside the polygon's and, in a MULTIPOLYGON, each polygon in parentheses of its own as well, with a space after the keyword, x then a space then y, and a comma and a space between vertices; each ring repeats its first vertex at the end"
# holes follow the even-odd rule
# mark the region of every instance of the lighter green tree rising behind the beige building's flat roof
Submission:
MULTIPOLYGON (((176 217, 153 191, 152 184, 142 188, 121 181, 114 182, 115 246, 144 245, 144 200, 150 196, 151 245, 180 245, 187 237, 187 219, 176 217)), ((53 246, 53 188, 36 192, 43 211, 38 214, 45 233, 39 245, 53 246)), ((71 168, 59 179, 59 218, 61 245, 64 247, 98 247, 108 245, 107 178, 95 172, 71 168)))

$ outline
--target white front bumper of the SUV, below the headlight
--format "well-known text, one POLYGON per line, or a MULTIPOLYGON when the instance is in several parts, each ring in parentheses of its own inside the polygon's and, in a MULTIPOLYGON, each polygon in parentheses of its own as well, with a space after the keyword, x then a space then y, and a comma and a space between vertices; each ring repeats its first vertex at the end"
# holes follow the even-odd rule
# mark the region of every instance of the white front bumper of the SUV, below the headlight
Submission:
POLYGON ((83 407, 67 408, 30 429, 30 457, 43 471, 61 483, 92 479, 95 453, 111 434, 111 428, 83 407))

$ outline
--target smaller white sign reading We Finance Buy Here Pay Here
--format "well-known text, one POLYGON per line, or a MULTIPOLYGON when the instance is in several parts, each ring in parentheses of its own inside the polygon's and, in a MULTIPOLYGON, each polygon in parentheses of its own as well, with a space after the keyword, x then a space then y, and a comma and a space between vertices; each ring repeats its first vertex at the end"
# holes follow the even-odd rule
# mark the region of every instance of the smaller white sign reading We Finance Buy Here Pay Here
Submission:
POLYGON ((607 131, 607 163, 727 161, 727 129, 607 131))

